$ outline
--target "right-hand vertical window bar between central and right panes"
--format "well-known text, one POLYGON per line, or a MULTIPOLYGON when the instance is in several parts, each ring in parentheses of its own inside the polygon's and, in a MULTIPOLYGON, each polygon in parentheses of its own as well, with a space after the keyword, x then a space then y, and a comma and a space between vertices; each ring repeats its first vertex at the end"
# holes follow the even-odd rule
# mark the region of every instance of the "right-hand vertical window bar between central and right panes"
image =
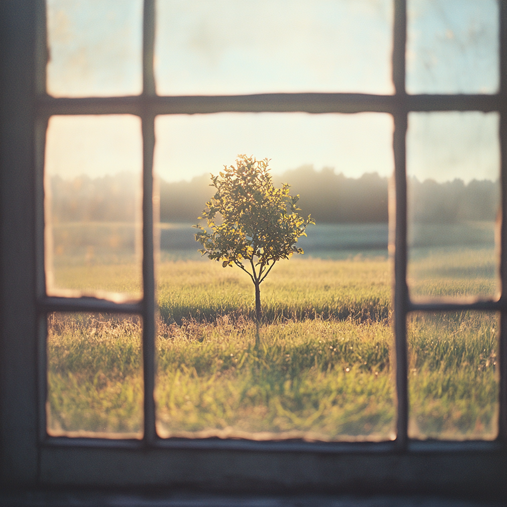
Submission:
POLYGON ((407 111, 405 93, 405 46, 407 35, 407 6, 405 0, 394 2, 392 48, 392 80, 395 94, 394 113, 394 183, 395 183, 395 238, 394 238, 394 336, 396 357, 397 423, 396 445, 407 447, 408 381, 407 381, 407 330, 408 308, 407 274, 407 177, 405 140, 407 111))

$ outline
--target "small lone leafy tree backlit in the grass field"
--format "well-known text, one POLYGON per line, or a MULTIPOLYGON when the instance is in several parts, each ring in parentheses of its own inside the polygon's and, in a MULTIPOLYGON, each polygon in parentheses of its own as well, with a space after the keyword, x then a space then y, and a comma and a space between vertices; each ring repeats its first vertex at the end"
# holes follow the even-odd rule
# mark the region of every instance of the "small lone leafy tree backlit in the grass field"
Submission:
POLYGON ((273 186, 268 162, 238 155, 236 167, 224 166, 219 176, 211 174, 216 193, 199 217, 206 219, 211 232, 194 226, 203 256, 248 273, 255 285, 257 320, 262 316, 261 283, 276 261, 304 253, 295 245, 306 236, 306 226, 315 224, 310 215, 305 220, 297 213, 299 195, 289 195, 289 185, 273 186))

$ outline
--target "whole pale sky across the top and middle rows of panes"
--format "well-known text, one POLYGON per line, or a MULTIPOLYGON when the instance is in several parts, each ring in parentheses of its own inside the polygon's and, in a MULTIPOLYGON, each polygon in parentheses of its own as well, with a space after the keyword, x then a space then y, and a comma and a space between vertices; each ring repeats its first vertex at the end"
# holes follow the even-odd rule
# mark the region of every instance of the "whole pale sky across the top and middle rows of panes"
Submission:
MULTIPOLYGON (((48 0, 48 93, 141 91, 141 0, 48 0)), ((159 0, 157 92, 391 94, 389 0, 159 0)), ((408 2, 410 93, 494 93, 494 0, 408 2)), ((411 114, 408 173, 440 181, 498 177, 494 114, 411 114)), ((276 172, 303 164, 358 177, 393 170, 385 114, 174 115, 156 121, 156 170, 168 181, 218 172, 240 153, 272 159, 276 172)), ((49 174, 92 177, 140 170, 140 127, 129 115, 53 118, 49 174)))

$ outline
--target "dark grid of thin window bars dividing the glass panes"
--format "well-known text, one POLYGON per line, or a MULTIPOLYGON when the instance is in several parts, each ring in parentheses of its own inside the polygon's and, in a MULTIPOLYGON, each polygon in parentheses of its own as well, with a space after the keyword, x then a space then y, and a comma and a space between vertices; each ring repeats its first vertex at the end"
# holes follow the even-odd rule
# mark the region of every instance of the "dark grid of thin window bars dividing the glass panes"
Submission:
MULTIPOLYGON (((406 341, 406 317, 411 312, 435 312, 435 311, 456 311, 456 310, 479 310, 501 311, 501 321, 504 324, 500 327, 500 355, 505 355, 505 323, 507 322, 507 310, 504 308, 503 297, 499 301, 482 301, 475 303, 454 303, 444 304, 438 302, 416 304, 410 300, 407 283, 407 180, 406 180, 406 156, 405 142, 407 131, 407 117, 411 111, 497 111, 501 115, 500 120, 500 144, 501 152, 504 155, 507 151, 507 127, 505 126, 505 112, 501 105, 504 98, 504 67, 507 64, 503 61, 507 58, 504 51, 504 40, 502 27, 507 21, 507 8, 500 3, 500 91, 495 95, 447 95, 443 96, 409 96, 405 92, 405 47, 407 14, 406 2, 395 0, 394 2, 394 26, 393 26, 393 84, 395 94, 393 96, 370 95, 358 97, 356 94, 266 94, 262 98, 256 96, 236 97, 185 97, 184 101, 176 97, 159 97, 155 94, 155 79, 153 73, 153 45, 155 25, 155 2, 144 0, 143 9, 143 92, 139 97, 130 97, 125 100, 122 97, 107 97, 100 99, 55 99, 43 94, 39 97, 39 128, 46 123, 47 118, 57 114, 134 114, 141 118, 142 122, 142 146, 143 146, 143 234, 142 234, 142 272, 143 272, 143 298, 139 303, 117 304, 94 298, 59 298, 48 297, 45 294, 39 298, 39 310, 41 315, 53 311, 110 311, 119 313, 135 313, 141 316, 143 327, 143 371, 144 371, 144 445, 153 446, 158 444, 169 445, 170 442, 163 442, 158 439, 155 430, 155 406, 153 401, 154 387, 154 340, 155 340, 155 309, 154 299, 154 247, 153 247, 153 149, 155 143, 154 119, 157 114, 171 113, 212 113, 212 112, 286 112, 306 111, 310 113, 357 113, 357 112, 385 112, 393 115, 394 135, 393 150, 395 158, 395 236, 394 236, 394 329, 396 343, 396 390, 398 397, 397 412, 397 437, 391 449, 407 449, 409 444, 408 427, 408 385, 407 385, 407 341, 406 341), (503 71, 503 74, 502 74, 503 71), (328 96, 326 96, 328 95, 328 96), (324 104, 322 105, 322 100, 324 104), (147 395, 148 394, 148 395, 147 395)), ((44 71, 43 74, 45 75, 44 71)), ((41 132, 42 133, 42 132, 41 132)), ((39 147, 42 150, 42 147, 39 147)), ((40 154, 39 154, 40 156, 40 154)), ((505 175, 501 174, 502 180, 502 209, 505 210, 505 175), (502 179, 503 178, 503 179, 502 179)), ((41 182, 42 178, 39 178, 41 182)), ((38 190, 40 192, 40 190, 38 190)), ((39 209, 39 212, 41 209, 39 209)), ((41 221, 38 221, 41 224, 41 221)), ((502 223, 501 245, 504 245, 506 225, 502 223)), ((39 241, 42 241, 40 231, 39 241)), ((501 269, 502 288, 505 279, 505 266, 507 265, 507 251, 502 248, 501 269)), ((39 256, 43 248, 38 248, 39 256)), ((41 259, 39 259, 40 261, 41 259)), ((44 263, 39 262, 40 269, 44 263)), ((44 273, 39 273, 39 280, 44 273)), ((46 331, 41 331, 43 343, 45 343, 46 331)), ((44 347, 41 347, 43 349, 44 347)), ((41 352, 41 356, 45 356, 41 352)), ((42 360, 42 364, 45 361, 42 360)), ((498 440, 504 440, 507 431, 506 414, 506 388, 505 384, 505 361, 500 361, 500 410, 499 410, 499 431, 498 440)), ((45 364, 44 364, 45 368, 45 364)), ((41 379, 46 382, 46 373, 43 372, 41 379)), ((45 388, 41 386, 41 394, 45 388)), ((40 400, 41 407, 45 405, 40 400)), ((58 438, 48 438, 46 432, 45 414, 41 409, 41 436, 47 443, 53 441, 58 445, 58 438), (44 427, 42 427, 44 426, 44 427)), ((78 443, 76 441, 76 443, 78 443)), ((221 445, 220 443, 218 444, 221 445)), ((302 444, 303 446, 306 444, 302 444)), ((379 444, 373 444, 379 445, 379 444)), ((213 446, 213 444, 212 444, 213 446)), ((241 447, 241 444, 239 444, 241 447)), ((283 449, 283 445, 278 446, 283 449)), ((304 448, 304 447, 303 447, 304 448)), ((350 447, 352 449, 352 447, 350 447)))

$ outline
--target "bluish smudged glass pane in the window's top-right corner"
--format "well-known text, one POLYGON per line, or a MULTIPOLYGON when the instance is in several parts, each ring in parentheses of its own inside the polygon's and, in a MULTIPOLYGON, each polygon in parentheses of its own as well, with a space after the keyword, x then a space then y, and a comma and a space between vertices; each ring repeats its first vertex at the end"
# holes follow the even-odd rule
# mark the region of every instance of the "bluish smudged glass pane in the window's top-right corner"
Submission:
POLYGON ((496 93, 499 20, 495 0, 409 0, 409 93, 496 93))

